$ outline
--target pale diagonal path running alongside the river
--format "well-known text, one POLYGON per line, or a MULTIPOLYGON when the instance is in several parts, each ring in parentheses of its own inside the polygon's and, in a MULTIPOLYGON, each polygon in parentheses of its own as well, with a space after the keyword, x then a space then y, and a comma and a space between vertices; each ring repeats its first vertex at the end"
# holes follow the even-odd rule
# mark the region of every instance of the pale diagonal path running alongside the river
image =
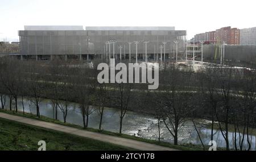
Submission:
POLYGON ((86 138, 100 140, 102 142, 113 143, 113 144, 117 144, 119 146, 130 147, 130 148, 139 149, 139 150, 143 150, 143 151, 164 151, 164 150, 175 151, 176 150, 176 149, 172 149, 172 148, 168 148, 168 147, 158 146, 156 144, 139 142, 137 140, 120 138, 117 136, 104 135, 104 134, 100 134, 97 132, 85 131, 85 130, 81 130, 79 128, 63 126, 61 124, 44 122, 44 121, 39 121, 36 119, 30 119, 30 118, 26 118, 26 117, 19 117, 16 115, 10 115, 10 114, 6 114, 6 113, 0 113, 0 118, 9 119, 11 121, 16 121, 16 122, 20 122, 20 123, 30 124, 32 126, 48 128, 48 129, 55 130, 55 131, 65 132, 68 134, 78 135, 78 136, 82 136, 82 137, 86 137, 86 138))

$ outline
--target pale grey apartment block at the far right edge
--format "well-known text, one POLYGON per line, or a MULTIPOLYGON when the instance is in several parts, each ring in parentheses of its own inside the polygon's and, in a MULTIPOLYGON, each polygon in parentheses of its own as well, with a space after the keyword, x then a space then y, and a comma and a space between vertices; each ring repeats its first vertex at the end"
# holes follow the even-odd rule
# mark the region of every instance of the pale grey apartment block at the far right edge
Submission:
POLYGON ((256 27, 240 30, 240 45, 256 45, 256 27))

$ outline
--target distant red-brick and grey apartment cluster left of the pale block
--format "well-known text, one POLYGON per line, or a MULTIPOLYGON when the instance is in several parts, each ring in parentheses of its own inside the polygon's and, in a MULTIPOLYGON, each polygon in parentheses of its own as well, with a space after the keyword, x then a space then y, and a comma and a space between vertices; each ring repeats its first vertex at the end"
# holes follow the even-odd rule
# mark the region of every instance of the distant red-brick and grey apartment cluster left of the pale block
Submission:
POLYGON ((229 45, 240 44, 240 30, 238 28, 223 27, 216 31, 195 35, 195 41, 220 41, 229 45))

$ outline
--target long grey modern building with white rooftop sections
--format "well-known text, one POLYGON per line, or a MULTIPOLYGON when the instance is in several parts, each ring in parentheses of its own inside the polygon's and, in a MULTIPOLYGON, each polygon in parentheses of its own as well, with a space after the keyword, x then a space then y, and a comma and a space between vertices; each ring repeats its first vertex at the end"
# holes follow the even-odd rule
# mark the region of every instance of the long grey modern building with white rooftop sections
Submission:
POLYGON ((114 51, 119 54, 120 48, 124 59, 129 53, 134 58, 135 42, 138 57, 143 59, 147 52, 148 59, 152 59, 161 51, 171 57, 176 49, 174 41, 179 41, 180 51, 184 50, 186 31, 175 27, 86 27, 84 30, 82 26, 25 26, 19 31, 19 38, 21 59, 84 60, 102 58, 114 51))

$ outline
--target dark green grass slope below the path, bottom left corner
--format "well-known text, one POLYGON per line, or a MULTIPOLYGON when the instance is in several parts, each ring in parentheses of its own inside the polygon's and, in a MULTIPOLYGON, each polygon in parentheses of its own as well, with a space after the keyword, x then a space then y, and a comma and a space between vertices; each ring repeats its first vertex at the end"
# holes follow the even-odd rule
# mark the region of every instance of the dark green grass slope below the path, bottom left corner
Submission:
POLYGON ((0 118, 0 150, 34 150, 39 140, 46 142, 47 150, 134 150, 106 142, 63 132, 30 126, 0 118))

